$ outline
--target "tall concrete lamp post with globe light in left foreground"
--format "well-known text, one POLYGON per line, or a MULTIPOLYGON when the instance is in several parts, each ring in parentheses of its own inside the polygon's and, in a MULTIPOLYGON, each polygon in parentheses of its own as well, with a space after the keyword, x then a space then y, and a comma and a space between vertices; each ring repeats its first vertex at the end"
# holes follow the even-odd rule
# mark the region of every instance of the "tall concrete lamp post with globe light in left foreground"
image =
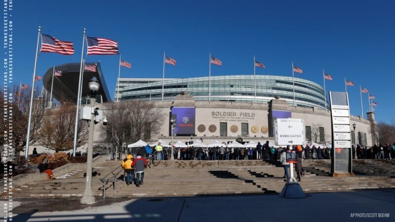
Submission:
POLYGON ((80 201, 81 204, 95 203, 95 197, 93 196, 93 191, 92 191, 92 156, 93 156, 93 131, 94 131, 93 127, 94 127, 94 118, 95 118, 95 113, 94 113, 94 107, 96 102, 95 97, 97 91, 100 88, 100 82, 96 79, 96 77, 93 77, 91 80, 89 80, 88 86, 89 86, 90 97, 91 97, 89 98, 89 102, 92 111, 90 114, 90 121, 89 121, 89 140, 88 140, 88 150, 87 150, 87 159, 86 159, 86 165, 87 165, 86 183, 85 183, 85 191, 83 192, 80 201))

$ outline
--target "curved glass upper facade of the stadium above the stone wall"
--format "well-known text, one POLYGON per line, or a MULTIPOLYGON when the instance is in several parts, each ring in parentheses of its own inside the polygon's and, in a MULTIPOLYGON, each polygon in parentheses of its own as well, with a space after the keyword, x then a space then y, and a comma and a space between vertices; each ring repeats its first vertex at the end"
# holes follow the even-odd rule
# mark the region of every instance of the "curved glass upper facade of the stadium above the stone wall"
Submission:
MULTIPOLYGON (((162 80, 155 79, 127 85, 122 83, 121 100, 162 100, 162 80)), ((323 88, 312 81, 294 78, 295 101, 297 106, 316 107, 325 109, 325 97, 323 88)), ((209 87, 209 77, 194 77, 180 79, 165 79, 163 83, 163 100, 174 100, 181 92, 189 92, 197 101, 208 101, 209 91, 212 101, 236 101, 236 102, 256 102, 269 103, 275 96, 280 96, 289 104, 293 105, 293 85, 292 77, 278 75, 256 75, 256 89, 254 90, 254 75, 223 75, 211 76, 211 87, 209 87), (210 89, 211 88, 211 89, 210 89)), ((328 100, 327 100, 328 101, 328 100)), ((329 108, 329 104, 327 103, 329 108)))

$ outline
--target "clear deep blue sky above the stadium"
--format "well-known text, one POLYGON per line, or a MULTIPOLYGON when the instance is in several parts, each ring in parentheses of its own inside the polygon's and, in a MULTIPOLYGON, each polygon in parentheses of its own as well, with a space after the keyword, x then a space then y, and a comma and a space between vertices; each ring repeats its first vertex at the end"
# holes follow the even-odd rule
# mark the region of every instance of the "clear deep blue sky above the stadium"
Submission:
MULTIPOLYGON (((14 1, 14 82, 32 84, 37 29, 73 41, 76 53, 41 53, 37 74, 79 62, 82 31, 118 41, 132 69, 121 77, 161 78, 163 51, 177 60, 166 77, 208 75, 208 54, 220 59, 212 75, 253 74, 253 56, 265 64, 257 74, 297 77, 323 85, 322 69, 333 76, 327 91, 348 87, 351 114, 360 115, 359 84, 376 97, 376 120, 389 122, 395 109, 395 2, 390 0, 298 1, 14 1)), ((118 55, 88 56, 101 61, 110 94, 118 77, 118 55)), ((39 83, 42 85, 42 83, 39 83)), ((362 95, 368 109, 367 94, 362 95)), ((366 114, 364 114, 366 117, 366 114)))

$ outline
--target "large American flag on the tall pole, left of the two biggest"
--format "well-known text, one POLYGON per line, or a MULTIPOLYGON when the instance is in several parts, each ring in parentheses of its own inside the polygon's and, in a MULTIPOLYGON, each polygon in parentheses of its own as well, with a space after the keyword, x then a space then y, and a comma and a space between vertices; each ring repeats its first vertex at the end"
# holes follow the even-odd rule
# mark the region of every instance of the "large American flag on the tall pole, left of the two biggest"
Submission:
POLYGON ((73 42, 60 41, 55 37, 41 34, 41 50, 40 52, 56 52, 62 55, 73 55, 73 42))

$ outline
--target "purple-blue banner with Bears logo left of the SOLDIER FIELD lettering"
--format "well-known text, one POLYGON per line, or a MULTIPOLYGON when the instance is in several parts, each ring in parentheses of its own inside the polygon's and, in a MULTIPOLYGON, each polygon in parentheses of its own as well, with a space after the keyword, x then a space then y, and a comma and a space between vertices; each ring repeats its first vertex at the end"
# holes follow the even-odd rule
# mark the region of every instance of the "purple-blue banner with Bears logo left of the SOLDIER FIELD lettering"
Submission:
POLYGON ((175 119, 174 134, 195 135, 195 107, 174 107, 171 116, 175 119))

